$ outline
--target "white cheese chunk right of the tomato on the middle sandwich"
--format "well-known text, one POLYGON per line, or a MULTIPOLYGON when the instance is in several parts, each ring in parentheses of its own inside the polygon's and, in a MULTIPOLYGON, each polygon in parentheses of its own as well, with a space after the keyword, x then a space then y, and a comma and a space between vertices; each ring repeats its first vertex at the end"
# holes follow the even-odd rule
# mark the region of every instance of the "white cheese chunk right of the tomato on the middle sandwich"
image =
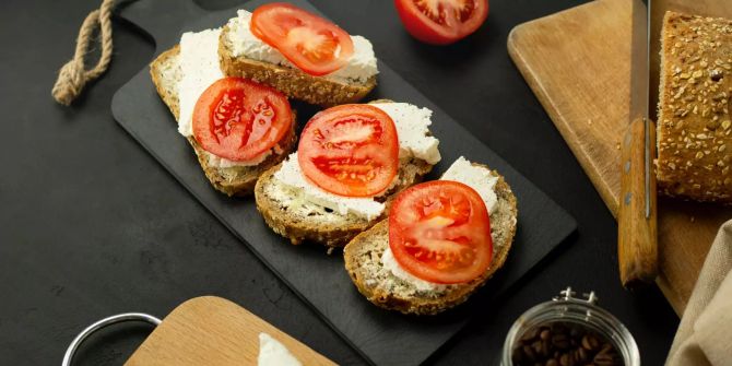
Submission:
POLYGON ((439 140, 429 135, 432 110, 409 103, 370 104, 383 110, 397 126, 399 156, 416 157, 435 165, 440 161, 439 140))

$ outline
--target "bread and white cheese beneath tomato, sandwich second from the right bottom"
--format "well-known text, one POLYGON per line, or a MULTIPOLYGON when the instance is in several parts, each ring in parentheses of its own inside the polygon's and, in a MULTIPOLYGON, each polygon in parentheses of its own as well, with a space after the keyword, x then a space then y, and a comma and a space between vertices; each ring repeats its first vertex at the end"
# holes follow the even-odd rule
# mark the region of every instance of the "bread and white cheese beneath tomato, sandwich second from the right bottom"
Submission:
POLYGON ((373 199, 328 193, 306 180, 299 170, 297 153, 262 174, 257 182, 257 209, 264 222, 292 244, 314 241, 329 247, 344 246, 385 217, 390 199, 422 181, 439 162, 439 142, 428 130, 432 110, 390 101, 369 104, 385 110, 399 133, 399 173, 385 193, 373 199))

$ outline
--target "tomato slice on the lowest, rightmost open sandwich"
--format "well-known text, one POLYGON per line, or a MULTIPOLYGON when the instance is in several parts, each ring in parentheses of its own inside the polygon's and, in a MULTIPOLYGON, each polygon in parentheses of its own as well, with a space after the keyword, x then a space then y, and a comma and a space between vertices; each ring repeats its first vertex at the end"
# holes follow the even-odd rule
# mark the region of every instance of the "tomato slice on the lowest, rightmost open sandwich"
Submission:
POLYGON ((434 180, 402 191, 389 211, 389 247, 399 264, 425 281, 464 283, 491 265, 488 211, 469 186, 434 180))

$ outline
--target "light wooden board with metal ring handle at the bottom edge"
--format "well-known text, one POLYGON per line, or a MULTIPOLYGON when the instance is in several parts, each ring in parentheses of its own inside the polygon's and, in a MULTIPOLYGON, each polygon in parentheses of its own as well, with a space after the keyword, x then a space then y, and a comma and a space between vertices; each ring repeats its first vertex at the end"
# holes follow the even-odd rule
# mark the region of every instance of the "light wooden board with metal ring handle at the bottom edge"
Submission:
POLYGON ((213 296, 175 308, 125 365, 257 365, 261 332, 284 344, 303 365, 335 365, 240 306, 213 296))

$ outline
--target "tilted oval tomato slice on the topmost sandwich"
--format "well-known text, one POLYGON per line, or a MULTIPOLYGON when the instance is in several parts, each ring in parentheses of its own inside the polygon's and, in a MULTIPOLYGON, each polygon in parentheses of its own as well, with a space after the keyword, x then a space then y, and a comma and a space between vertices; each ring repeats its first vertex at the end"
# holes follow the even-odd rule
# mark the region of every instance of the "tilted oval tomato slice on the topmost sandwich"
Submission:
POLYGON ((257 8, 249 27, 255 36, 311 75, 329 74, 346 64, 353 55, 349 33, 288 3, 257 8))

